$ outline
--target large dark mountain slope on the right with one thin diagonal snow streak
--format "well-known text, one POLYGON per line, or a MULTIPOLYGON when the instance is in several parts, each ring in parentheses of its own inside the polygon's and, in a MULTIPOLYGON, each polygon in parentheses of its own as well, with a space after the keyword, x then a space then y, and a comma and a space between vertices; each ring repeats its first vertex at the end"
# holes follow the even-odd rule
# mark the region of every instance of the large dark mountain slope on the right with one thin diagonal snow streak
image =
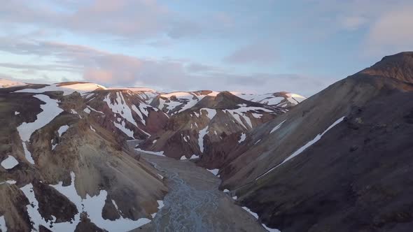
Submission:
POLYGON ((222 189, 281 231, 409 231, 413 52, 384 57, 246 134, 222 189))

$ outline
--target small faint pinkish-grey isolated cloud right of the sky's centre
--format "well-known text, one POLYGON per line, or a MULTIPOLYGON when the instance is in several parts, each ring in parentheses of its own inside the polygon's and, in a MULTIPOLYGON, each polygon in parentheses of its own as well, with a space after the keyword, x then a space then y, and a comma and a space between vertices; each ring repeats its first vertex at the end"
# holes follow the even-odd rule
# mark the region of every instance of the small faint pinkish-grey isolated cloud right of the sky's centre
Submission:
POLYGON ((278 53, 275 45, 266 42, 255 42, 239 48, 223 61, 231 64, 274 64, 278 59, 278 53))

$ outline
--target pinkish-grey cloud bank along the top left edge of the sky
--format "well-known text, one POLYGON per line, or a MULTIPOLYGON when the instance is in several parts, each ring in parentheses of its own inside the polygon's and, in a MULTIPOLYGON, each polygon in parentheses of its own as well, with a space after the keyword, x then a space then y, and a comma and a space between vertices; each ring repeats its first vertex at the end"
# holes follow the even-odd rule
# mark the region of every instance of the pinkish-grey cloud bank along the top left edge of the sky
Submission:
POLYGON ((2 3, 0 22, 44 29, 127 38, 130 41, 168 34, 192 36, 200 29, 155 0, 99 0, 2 3))

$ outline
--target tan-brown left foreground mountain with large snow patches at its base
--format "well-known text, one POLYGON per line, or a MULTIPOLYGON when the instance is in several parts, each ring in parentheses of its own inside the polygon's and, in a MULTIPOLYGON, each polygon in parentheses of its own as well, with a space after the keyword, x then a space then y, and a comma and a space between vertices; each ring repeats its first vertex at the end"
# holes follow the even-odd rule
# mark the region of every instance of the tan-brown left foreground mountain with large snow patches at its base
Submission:
POLYGON ((153 219, 167 187, 87 110, 92 89, 108 96, 91 83, 0 89, 2 231, 129 231, 153 219))

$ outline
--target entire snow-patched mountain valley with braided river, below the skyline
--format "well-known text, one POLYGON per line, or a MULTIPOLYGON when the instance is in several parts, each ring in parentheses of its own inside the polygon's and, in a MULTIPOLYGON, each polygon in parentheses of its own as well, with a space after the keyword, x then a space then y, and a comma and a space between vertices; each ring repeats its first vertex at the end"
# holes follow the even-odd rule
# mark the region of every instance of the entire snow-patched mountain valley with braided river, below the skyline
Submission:
POLYGON ((308 99, 0 84, 2 232, 413 226, 413 52, 308 99))

